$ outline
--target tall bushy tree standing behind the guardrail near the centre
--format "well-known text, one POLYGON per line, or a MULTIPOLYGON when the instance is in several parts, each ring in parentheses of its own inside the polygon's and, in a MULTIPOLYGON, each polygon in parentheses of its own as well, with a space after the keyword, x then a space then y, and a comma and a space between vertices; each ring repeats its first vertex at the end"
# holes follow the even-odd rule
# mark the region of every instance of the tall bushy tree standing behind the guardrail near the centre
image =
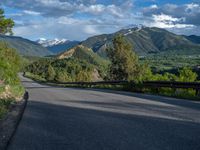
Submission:
POLYGON ((137 55, 132 51, 132 45, 122 35, 113 39, 113 47, 107 49, 111 60, 109 69, 111 80, 137 80, 139 63, 137 55))

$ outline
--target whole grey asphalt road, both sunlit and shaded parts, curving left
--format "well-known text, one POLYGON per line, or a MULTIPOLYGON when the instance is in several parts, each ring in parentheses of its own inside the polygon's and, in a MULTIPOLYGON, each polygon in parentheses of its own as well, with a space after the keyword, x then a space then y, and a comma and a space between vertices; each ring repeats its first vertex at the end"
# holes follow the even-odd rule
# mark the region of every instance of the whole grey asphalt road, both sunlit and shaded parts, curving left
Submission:
POLYGON ((9 150, 200 150, 200 103, 110 90, 29 92, 9 150))

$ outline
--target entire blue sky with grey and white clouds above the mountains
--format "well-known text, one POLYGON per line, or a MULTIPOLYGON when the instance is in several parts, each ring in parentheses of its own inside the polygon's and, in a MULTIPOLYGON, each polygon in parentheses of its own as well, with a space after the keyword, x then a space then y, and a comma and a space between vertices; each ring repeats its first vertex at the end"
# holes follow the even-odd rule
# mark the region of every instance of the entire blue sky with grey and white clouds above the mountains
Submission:
POLYGON ((131 25, 200 35, 200 0, 0 0, 15 36, 84 40, 131 25))

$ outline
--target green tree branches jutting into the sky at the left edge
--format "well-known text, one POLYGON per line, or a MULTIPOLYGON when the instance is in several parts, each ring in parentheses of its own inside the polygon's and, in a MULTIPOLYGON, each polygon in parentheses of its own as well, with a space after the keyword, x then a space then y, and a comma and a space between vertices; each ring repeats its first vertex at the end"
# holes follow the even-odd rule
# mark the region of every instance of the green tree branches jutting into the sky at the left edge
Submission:
POLYGON ((4 10, 0 9, 0 34, 10 34, 12 35, 12 28, 14 27, 15 23, 10 18, 5 18, 4 10))

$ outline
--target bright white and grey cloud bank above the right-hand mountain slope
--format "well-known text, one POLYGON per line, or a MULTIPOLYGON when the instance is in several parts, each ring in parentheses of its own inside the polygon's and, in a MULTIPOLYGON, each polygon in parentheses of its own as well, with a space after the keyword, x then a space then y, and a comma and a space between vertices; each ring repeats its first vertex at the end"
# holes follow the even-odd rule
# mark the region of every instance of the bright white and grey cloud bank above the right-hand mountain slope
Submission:
POLYGON ((200 5, 151 5, 142 10, 144 22, 148 26, 166 28, 178 34, 199 34, 200 5))

